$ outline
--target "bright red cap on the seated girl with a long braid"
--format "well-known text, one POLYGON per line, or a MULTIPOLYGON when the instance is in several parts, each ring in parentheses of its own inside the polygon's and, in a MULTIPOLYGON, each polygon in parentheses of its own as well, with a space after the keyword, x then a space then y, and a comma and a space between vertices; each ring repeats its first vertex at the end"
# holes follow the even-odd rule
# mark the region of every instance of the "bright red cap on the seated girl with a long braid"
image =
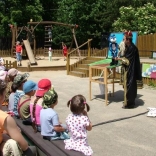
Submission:
POLYGON ((42 79, 38 82, 38 90, 36 96, 42 97, 51 88, 51 81, 49 79, 42 79))

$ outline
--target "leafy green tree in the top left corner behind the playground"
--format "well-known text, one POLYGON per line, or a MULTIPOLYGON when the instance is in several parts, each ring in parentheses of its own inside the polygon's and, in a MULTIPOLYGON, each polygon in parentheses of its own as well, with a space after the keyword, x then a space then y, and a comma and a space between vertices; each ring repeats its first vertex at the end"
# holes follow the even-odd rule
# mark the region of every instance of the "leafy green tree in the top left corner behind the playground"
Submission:
POLYGON ((8 24, 25 26, 30 19, 42 20, 42 5, 39 0, 1 0, 1 36, 10 35, 8 24))

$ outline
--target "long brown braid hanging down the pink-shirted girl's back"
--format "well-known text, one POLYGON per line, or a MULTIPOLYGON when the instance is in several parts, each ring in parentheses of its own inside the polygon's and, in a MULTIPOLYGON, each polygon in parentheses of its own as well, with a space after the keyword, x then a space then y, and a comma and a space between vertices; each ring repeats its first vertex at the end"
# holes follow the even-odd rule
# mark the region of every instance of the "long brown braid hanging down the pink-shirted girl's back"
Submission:
POLYGON ((35 112, 36 112, 36 104, 37 104, 37 101, 40 99, 41 97, 36 97, 36 99, 34 100, 34 105, 33 105, 33 110, 32 110, 32 127, 34 129, 34 132, 37 133, 37 127, 36 127, 36 115, 35 115, 35 112))

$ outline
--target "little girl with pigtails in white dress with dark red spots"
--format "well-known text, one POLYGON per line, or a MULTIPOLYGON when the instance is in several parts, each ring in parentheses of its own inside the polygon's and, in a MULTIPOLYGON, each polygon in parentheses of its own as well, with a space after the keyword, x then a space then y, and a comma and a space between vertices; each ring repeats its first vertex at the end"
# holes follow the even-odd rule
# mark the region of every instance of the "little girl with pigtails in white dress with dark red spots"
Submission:
POLYGON ((70 106, 72 112, 66 119, 71 138, 64 141, 65 149, 80 151, 84 155, 90 156, 93 153, 87 143, 87 130, 90 131, 92 129, 92 124, 87 115, 90 107, 82 95, 74 96, 68 101, 67 106, 70 106), (87 112, 85 111, 85 107, 87 107, 87 112))

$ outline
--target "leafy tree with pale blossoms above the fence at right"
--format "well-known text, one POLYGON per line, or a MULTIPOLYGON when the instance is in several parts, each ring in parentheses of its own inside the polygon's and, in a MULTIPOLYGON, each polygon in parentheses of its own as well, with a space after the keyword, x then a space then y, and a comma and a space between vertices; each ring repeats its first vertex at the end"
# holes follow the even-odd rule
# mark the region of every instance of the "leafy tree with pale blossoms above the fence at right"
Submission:
POLYGON ((156 8, 153 4, 147 3, 142 7, 132 6, 120 9, 120 17, 113 23, 114 31, 132 30, 139 34, 150 34, 156 32, 156 8))

